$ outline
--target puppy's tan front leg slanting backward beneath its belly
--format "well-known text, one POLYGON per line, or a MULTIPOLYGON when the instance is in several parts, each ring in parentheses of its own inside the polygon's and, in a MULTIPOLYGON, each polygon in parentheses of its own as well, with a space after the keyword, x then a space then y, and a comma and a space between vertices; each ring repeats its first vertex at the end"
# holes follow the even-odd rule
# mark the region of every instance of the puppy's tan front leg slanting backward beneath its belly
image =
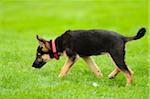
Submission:
POLYGON ((98 68, 98 66, 91 57, 82 57, 82 58, 89 65, 89 67, 92 69, 92 71, 95 73, 97 77, 103 76, 100 69, 98 68))

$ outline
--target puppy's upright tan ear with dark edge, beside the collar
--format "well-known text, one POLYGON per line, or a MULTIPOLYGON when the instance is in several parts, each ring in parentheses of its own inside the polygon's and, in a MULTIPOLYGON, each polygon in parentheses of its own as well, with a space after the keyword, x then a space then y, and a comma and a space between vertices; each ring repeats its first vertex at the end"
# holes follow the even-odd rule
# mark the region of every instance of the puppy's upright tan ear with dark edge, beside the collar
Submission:
POLYGON ((41 47, 46 48, 47 50, 50 49, 49 41, 39 37, 38 35, 36 35, 36 38, 41 47))

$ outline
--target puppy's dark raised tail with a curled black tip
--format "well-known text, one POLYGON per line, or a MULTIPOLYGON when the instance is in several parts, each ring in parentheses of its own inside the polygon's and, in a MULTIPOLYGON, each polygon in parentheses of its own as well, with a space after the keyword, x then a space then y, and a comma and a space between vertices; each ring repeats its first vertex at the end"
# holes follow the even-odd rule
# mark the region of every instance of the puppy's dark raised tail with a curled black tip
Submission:
POLYGON ((146 32, 146 29, 145 28, 141 28, 137 35, 136 36, 133 36, 133 37, 125 37, 125 42, 128 42, 128 41, 132 41, 132 40, 137 40, 137 39, 140 39, 142 38, 144 35, 145 35, 145 32, 146 32))

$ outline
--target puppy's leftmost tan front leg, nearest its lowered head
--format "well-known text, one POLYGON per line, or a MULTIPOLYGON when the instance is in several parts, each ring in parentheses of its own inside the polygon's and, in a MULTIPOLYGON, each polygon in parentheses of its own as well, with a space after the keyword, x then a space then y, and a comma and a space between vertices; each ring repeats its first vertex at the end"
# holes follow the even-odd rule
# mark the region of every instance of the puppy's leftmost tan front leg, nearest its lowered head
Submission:
POLYGON ((77 60, 77 57, 75 57, 75 59, 68 58, 68 60, 64 64, 63 68, 61 69, 59 77, 65 76, 68 73, 68 71, 70 70, 71 66, 75 63, 76 60, 77 60))

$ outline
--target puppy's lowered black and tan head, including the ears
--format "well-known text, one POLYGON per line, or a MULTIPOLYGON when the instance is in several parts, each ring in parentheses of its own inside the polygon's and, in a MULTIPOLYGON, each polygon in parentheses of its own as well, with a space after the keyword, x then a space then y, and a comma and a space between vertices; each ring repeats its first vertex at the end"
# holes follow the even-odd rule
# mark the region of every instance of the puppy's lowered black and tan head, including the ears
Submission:
POLYGON ((36 36, 39 46, 36 52, 36 59, 32 65, 35 68, 41 68, 44 66, 50 59, 54 58, 53 52, 50 47, 50 41, 47 41, 38 35, 36 36))

